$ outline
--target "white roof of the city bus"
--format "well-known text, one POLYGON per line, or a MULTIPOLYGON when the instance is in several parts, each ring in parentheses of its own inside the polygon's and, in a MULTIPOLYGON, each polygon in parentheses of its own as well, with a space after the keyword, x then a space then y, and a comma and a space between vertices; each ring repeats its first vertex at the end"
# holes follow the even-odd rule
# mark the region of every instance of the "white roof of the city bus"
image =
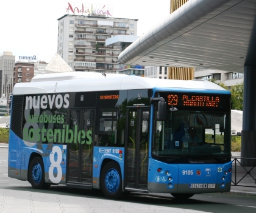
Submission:
POLYGON ((225 89, 215 83, 204 80, 171 80, 144 78, 134 75, 65 72, 37 75, 30 83, 15 84, 13 95, 60 93, 60 92, 91 92, 108 90, 154 89, 166 87, 177 89, 219 90, 225 89))

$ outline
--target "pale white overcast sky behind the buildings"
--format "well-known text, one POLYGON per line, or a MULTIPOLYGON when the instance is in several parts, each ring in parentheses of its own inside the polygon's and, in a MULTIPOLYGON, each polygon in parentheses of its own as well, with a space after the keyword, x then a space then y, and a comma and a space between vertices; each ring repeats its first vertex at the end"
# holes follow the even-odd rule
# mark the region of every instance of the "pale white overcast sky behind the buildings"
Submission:
POLYGON ((114 18, 138 19, 138 36, 169 15, 170 0, 4 0, 0 6, 0 54, 37 56, 49 63, 57 52, 58 21, 65 2, 113 5, 114 18))

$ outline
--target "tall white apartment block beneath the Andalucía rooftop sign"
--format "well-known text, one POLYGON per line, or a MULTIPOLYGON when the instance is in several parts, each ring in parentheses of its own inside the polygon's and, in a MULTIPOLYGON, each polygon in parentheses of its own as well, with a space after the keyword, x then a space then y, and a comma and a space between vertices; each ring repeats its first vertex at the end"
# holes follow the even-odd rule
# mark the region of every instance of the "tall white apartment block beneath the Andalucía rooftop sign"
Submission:
POLYGON ((137 35, 138 19, 64 15, 58 19, 57 53, 74 71, 116 73, 121 47, 105 46, 115 35, 137 35))

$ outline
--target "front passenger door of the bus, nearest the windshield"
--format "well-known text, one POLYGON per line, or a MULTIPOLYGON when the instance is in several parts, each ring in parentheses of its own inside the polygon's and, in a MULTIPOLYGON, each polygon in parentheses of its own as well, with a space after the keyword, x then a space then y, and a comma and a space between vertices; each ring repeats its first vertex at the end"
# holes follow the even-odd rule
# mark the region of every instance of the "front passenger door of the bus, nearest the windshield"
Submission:
POLYGON ((127 108, 125 188, 148 189, 149 108, 127 108))

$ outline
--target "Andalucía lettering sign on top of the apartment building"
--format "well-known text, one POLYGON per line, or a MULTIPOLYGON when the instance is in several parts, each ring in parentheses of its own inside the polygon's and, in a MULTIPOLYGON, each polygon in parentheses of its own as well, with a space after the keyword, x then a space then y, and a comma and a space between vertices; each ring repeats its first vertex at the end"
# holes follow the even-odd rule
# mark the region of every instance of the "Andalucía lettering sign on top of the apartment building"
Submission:
POLYGON ((65 2, 65 13, 72 15, 106 15, 113 16, 113 5, 65 2))

